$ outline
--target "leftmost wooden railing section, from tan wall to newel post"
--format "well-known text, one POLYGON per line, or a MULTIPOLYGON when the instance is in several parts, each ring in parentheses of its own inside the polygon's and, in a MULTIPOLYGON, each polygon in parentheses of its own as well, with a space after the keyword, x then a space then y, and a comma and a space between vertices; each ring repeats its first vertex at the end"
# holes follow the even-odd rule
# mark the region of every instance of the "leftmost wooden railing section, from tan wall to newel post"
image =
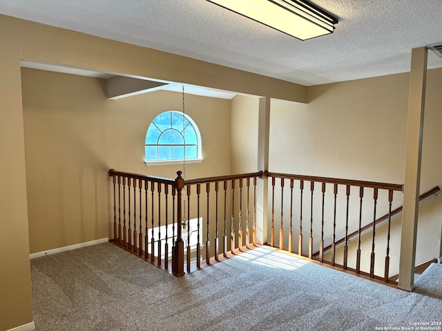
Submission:
MULTIPOLYGON (((108 174, 113 177, 114 243, 169 269, 169 253, 175 253, 175 247, 182 245, 181 228, 175 227, 175 205, 180 206, 175 200, 180 201, 183 185, 181 172, 176 179, 113 169, 108 174)), ((180 269, 173 272, 180 274, 180 269)))

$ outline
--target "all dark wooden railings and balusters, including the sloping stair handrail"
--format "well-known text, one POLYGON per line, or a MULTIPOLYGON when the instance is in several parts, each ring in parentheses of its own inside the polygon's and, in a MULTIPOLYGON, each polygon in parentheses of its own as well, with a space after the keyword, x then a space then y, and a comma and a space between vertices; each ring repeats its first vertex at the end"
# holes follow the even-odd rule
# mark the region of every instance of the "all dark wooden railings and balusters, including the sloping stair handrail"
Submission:
MULTIPOLYGON (((184 179, 182 178, 182 172, 177 171, 176 178, 165 178, 165 177, 155 177, 147 176, 144 174, 134 174, 130 172, 119 172, 117 170, 108 170, 108 175, 113 177, 113 225, 114 225, 114 238, 115 241, 128 248, 132 252, 137 251, 137 254, 141 257, 144 255, 144 259, 148 259, 151 263, 156 261, 157 265, 162 265, 162 252, 164 245, 165 255, 169 257, 169 239, 173 238, 173 243, 171 247, 172 252, 172 268, 171 272, 177 276, 184 274, 184 257, 187 261, 187 272, 191 271, 191 257, 193 253, 191 252, 191 240, 190 223, 186 223, 195 214, 198 220, 197 227, 197 244, 195 255, 201 256, 201 238, 200 230, 202 228, 206 229, 206 241, 204 242, 206 248, 206 263, 211 263, 211 248, 215 251, 215 261, 218 261, 220 243, 222 244, 222 257, 227 257, 228 240, 230 238, 230 250, 231 254, 235 254, 237 250, 242 251, 242 249, 249 248, 249 245, 253 243, 256 245, 256 219, 258 218, 256 214, 257 210, 257 179, 271 178, 271 197, 272 197, 272 207, 271 207, 271 245, 274 245, 274 235, 276 230, 279 229, 280 248, 284 248, 284 228, 285 222, 283 210, 285 197, 290 196, 290 210, 293 210, 293 194, 294 194, 294 181, 299 182, 300 190, 300 217, 298 219, 299 223, 299 239, 298 239, 298 254, 302 255, 302 239, 303 236, 307 237, 307 232, 309 228, 309 258, 314 259, 319 254, 319 260, 323 262, 324 252, 327 250, 332 250, 332 259, 329 261, 332 265, 336 265, 335 253, 336 245, 340 243, 345 243, 344 248, 344 259, 343 268, 348 269, 347 265, 347 243, 348 239, 361 234, 361 232, 373 229, 373 242, 372 242, 372 255, 371 255, 371 266, 370 266, 370 277, 374 278, 378 275, 374 274, 374 229, 377 223, 384 221, 385 219, 390 220, 391 216, 402 211, 402 207, 392 210, 392 197, 393 191, 402 191, 403 185, 394 183, 380 183, 373 181, 358 181, 352 179, 337 179, 330 177, 316 177, 307 176, 300 174, 283 174, 278 172, 249 172, 244 174, 229 174, 224 176, 206 177, 206 178, 196 178, 196 179, 184 179), (244 184, 244 179, 247 179, 244 184), (275 192, 275 181, 280 180, 280 192, 275 192), (289 185, 287 180, 290 181, 289 185), (253 183, 252 183, 253 182, 253 183), (307 185, 309 183, 309 185, 307 185), (318 183, 318 185, 316 185, 318 183), (322 223, 321 223, 321 239, 320 239, 320 252, 314 253, 314 240, 313 240, 313 201, 314 201, 314 190, 315 187, 322 184, 322 189, 319 190, 319 194, 322 193, 322 223), (286 184, 286 185, 285 185, 286 184), (305 185, 306 184, 306 185, 305 185), (163 186, 164 185, 164 186, 163 186), (330 185, 330 187, 329 187, 330 185), (285 190, 286 186, 286 190, 285 190), (324 206, 325 206, 325 191, 326 186, 332 188, 333 190, 329 193, 334 194, 334 219, 333 219, 333 244, 329 245, 327 248, 324 247, 324 206), (347 210, 347 216, 345 218, 345 238, 336 241, 336 201, 338 194, 338 186, 346 186, 345 195, 347 197, 347 202, 339 208, 345 207, 347 210), (351 187, 354 186, 359 188, 359 201, 360 201, 360 213, 359 213, 359 230, 347 234, 348 221, 349 221, 349 194, 351 187), (308 188, 309 187, 309 188, 308 188), (361 225, 361 210, 363 205, 363 191, 364 188, 370 188, 373 190, 373 208, 374 217, 372 220, 374 222, 369 223, 362 227, 361 225), (184 191, 183 191, 184 189, 184 191), (213 192, 211 192, 211 190, 213 192), (389 197, 389 214, 384 215, 376 219, 376 202, 378 199, 378 190, 387 190, 389 197), (305 191, 305 192, 304 192, 305 191), (305 194, 303 194, 303 192, 305 194), (170 195, 168 195, 168 193, 170 195), (218 193, 220 193, 218 195, 218 193), (275 194, 280 194, 280 226, 277 224, 279 210, 277 207, 275 210, 275 194), (213 197, 213 194, 215 197, 213 197), (244 200, 244 194, 246 199, 244 200), (213 198, 212 198, 213 197, 213 198), (302 233, 302 205, 303 197, 309 199, 309 219, 304 220, 304 225, 307 224, 307 230, 304 229, 304 234, 302 233), (220 199, 220 204, 218 204, 218 199, 220 199), (239 209, 238 209, 238 203, 239 209), (168 205, 169 203, 169 205, 168 205), (212 205, 212 203, 215 203, 212 205), (243 207, 246 205, 247 207, 243 207), (202 209, 200 208, 202 206, 202 209), (187 207, 187 208, 186 208, 187 207), (227 207, 229 210, 227 210, 227 207), (144 208, 144 209, 143 209, 144 208), (191 212, 192 208, 192 212, 191 212), (196 208, 196 209, 195 209, 196 208), (205 209, 203 211, 203 209, 205 209), (224 211, 224 212, 223 212, 224 211), (169 217, 168 217, 169 212, 169 217), (163 215, 165 215, 164 222, 163 215), (211 225, 210 219, 215 215, 215 223, 211 225), (200 224, 202 217, 206 217, 206 225, 200 224), (222 229, 220 234, 218 233, 218 219, 221 221, 220 228, 222 229), (170 221, 170 223, 169 223, 170 221), (309 222, 308 222, 309 221, 309 222), (126 228, 126 224, 128 227, 126 228), (160 229, 162 225, 166 226, 172 225, 172 236, 169 236, 166 230, 166 234, 162 235, 160 229), (186 230, 183 225, 187 225, 186 236, 183 238, 183 230, 186 230), (309 225, 309 226, 308 226, 309 225), (144 230, 143 230, 144 226, 144 230), (157 226, 157 234, 155 234, 155 226, 157 226), (209 229, 215 229, 215 232, 210 234, 209 229), (243 237, 245 234, 245 241, 243 237), (158 237, 155 240, 155 236, 158 237), (253 241, 251 241, 253 238, 253 241), (127 239, 127 240, 126 240, 127 239), (144 239, 144 240, 143 240, 144 239), (213 241, 212 241, 213 239, 213 241), (184 242, 186 243, 186 253, 184 252, 184 242), (245 245, 244 245, 245 242, 245 245), (137 243, 139 247, 137 248, 137 243), (148 244, 150 243, 150 244, 148 244), (238 243, 238 245, 237 245, 238 243), (157 245, 157 249, 155 249, 157 245), (144 246, 144 250, 143 250, 144 246), (150 250, 150 253, 148 252, 150 250), (143 254, 144 252, 144 254, 143 254), (155 253, 157 252, 157 253, 155 253), (157 254, 157 255, 155 255, 157 254)), ((270 184, 269 184, 270 185, 270 184)), ((345 187, 344 187, 345 188, 345 187)), ((425 192, 420 197, 420 200, 429 197, 431 194, 435 194, 441 190, 438 186, 432 190, 425 192)), ((318 191, 318 190, 316 190, 318 191)), ((371 191, 371 190, 370 190, 371 191)), ((327 189, 328 192, 328 189, 327 189)), ((258 197, 259 198, 259 197, 258 197)), ((308 213, 307 213, 308 214, 308 213)), ((290 214, 290 232, 289 232, 289 251, 293 250, 293 231, 292 228, 296 225, 293 221, 292 212, 290 214)), ((269 219, 270 224, 270 219, 269 219)), ((306 228, 306 226, 304 226, 306 228)), ((295 230, 296 232, 296 230, 295 230)), ((390 243, 390 232, 387 238, 387 254, 385 257, 385 281, 388 281, 388 265, 390 263, 389 256, 389 243, 390 243)), ((359 263, 361 259, 361 252, 358 248, 358 257, 356 261, 356 272, 360 273, 359 263)), ((166 268, 167 262, 164 260, 164 265, 166 268)), ((197 268, 200 268, 200 261, 197 261, 197 268)))

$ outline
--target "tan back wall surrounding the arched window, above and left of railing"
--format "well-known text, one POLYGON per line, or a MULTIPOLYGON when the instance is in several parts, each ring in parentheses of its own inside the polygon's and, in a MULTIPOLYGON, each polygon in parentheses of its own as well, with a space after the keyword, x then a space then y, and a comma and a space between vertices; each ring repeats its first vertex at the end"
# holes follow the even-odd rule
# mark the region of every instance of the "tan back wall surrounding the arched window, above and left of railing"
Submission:
MULTIPOLYGON (((182 170, 144 164, 149 124, 161 112, 182 110, 182 94, 113 101, 102 79, 26 68, 22 85, 31 253, 113 237, 110 168, 169 178, 182 170)), ((230 101, 190 94, 185 101, 204 158, 186 164, 187 178, 230 174, 230 101)))

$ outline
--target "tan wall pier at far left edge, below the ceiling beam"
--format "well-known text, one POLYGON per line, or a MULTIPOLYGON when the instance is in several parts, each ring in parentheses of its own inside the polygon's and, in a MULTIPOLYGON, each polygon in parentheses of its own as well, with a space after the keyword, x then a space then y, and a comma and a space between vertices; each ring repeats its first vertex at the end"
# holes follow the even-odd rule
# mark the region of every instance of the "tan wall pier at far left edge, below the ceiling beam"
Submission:
POLYGON ((0 30, 0 330, 34 330, 20 54, 7 34, 0 30))

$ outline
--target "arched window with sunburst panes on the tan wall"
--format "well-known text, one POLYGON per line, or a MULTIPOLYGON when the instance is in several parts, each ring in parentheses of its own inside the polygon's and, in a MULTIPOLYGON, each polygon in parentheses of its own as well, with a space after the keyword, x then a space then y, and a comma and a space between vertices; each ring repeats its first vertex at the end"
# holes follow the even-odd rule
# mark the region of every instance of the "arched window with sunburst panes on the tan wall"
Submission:
POLYGON ((200 131, 186 114, 162 112, 147 129, 145 155, 146 162, 201 159, 200 131))

